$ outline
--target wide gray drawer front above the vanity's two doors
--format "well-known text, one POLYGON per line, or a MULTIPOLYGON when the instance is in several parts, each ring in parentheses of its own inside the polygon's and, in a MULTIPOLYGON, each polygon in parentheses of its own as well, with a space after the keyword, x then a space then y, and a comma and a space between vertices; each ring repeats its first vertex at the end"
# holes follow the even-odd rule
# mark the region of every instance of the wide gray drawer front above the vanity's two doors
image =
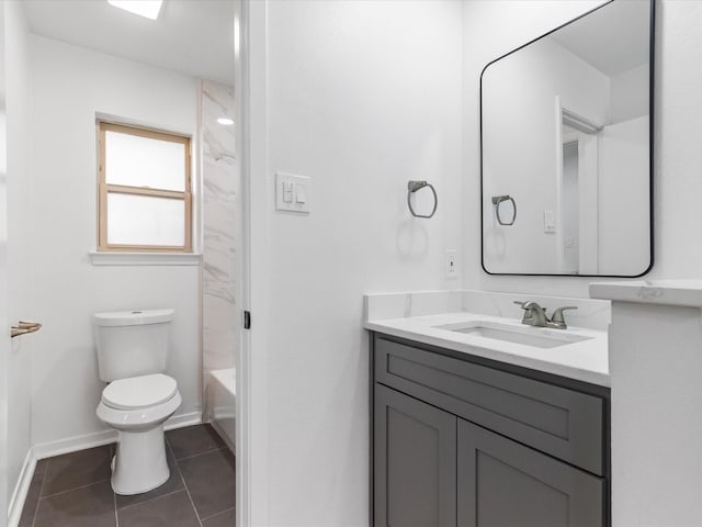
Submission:
POLYGON ((604 473, 600 397, 378 336, 375 380, 590 472, 604 473))

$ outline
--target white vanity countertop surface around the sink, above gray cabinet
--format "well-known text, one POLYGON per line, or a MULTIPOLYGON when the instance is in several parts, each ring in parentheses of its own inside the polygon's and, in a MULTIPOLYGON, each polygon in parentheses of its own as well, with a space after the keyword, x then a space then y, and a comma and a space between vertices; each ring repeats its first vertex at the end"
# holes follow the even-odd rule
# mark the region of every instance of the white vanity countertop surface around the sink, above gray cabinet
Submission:
POLYGON ((522 330, 523 328, 534 330, 535 334, 563 332, 562 329, 532 328, 531 326, 522 325, 518 319, 465 312, 369 319, 365 322, 364 327, 386 335, 439 346, 476 357, 498 360, 602 386, 610 385, 607 332, 569 326, 566 329, 567 333, 589 338, 554 348, 537 348, 434 327, 474 321, 514 325, 522 330))

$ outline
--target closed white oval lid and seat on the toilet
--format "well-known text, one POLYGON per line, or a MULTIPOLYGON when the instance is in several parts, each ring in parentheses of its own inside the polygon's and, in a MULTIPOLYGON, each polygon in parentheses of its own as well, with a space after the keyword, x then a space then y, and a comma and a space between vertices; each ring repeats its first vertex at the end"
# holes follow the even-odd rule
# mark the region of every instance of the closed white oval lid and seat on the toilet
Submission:
POLYGON ((102 403, 114 410, 133 411, 163 404, 176 395, 176 379, 162 373, 113 381, 102 391, 102 403))

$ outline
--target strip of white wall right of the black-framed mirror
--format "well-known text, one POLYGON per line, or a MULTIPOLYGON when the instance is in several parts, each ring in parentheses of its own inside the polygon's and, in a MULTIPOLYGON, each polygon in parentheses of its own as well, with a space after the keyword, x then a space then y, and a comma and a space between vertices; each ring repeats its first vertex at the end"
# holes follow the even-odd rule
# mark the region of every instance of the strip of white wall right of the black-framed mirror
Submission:
POLYGON ((699 222, 702 194, 702 3, 665 0, 657 9, 654 110, 656 265, 652 278, 702 276, 699 222), (697 96, 695 96, 697 93, 697 96))

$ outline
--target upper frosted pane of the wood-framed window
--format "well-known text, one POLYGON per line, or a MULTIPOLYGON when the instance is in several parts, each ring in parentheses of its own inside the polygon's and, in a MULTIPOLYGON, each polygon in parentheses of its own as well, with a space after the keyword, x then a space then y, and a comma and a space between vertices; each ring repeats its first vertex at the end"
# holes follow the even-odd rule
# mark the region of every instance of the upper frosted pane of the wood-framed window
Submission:
POLYGON ((105 177, 110 184, 185 190, 185 145, 105 132, 105 177))

